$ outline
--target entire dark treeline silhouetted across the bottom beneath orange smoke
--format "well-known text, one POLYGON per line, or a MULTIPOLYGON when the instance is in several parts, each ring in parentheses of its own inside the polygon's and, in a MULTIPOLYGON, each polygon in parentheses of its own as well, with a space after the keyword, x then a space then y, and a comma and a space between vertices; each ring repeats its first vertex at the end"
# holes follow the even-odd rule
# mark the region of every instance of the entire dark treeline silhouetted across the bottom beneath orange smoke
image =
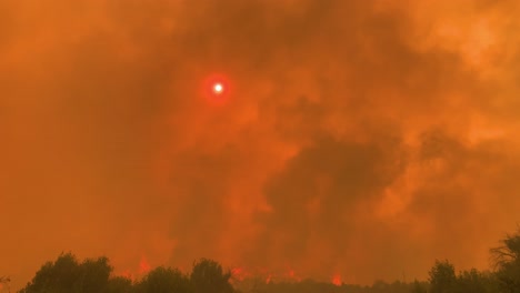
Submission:
POLYGON ((233 282, 233 286, 231 272, 207 259, 196 262, 191 273, 159 266, 132 281, 112 276, 107 257, 80 263, 68 253, 46 263, 19 293, 520 293, 520 230, 490 252, 491 271, 457 272, 449 261, 436 261, 428 281, 377 281, 371 286, 312 280, 266 283, 260 279, 233 282))

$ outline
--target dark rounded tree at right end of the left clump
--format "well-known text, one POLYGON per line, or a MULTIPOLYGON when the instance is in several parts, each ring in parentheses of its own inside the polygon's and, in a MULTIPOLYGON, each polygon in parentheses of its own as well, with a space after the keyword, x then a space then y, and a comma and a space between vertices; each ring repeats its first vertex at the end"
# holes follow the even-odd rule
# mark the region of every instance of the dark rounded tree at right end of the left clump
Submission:
POLYGON ((190 281, 194 293, 232 293, 230 277, 231 272, 224 273, 219 263, 202 259, 193 264, 190 281))

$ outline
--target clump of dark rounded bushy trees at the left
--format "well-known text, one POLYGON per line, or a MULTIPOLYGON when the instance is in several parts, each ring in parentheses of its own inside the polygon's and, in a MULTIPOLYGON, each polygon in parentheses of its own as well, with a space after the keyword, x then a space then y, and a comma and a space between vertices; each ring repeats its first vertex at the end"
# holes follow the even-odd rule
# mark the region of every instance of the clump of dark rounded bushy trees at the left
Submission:
POLYGON ((193 264, 190 274, 177 269, 159 266, 141 280, 112 276, 107 257, 78 262, 71 253, 46 263, 19 293, 234 293, 231 273, 202 259, 193 264))

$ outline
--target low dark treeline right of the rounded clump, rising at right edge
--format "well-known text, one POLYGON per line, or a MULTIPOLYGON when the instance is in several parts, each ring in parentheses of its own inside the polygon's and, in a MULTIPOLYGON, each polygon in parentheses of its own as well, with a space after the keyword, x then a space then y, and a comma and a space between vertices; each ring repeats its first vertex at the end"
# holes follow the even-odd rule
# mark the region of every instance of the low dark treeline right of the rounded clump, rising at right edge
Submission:
POLYGON ((436 261, 428 281, 404 283, 374 282, 371 286, 306 280, 298 283, 257 282, 250 292, 258 293, 520 293, 520 230, 507 235, 501 245, 490 250, 493 260, 491 271, 457 272, 449 261, 436 261))

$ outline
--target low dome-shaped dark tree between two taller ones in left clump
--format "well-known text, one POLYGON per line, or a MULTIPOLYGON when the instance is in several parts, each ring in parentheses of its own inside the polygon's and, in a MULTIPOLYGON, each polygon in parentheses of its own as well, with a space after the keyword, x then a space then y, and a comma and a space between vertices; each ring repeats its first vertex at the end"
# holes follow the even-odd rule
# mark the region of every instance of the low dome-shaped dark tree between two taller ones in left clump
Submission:
POLYGON ((150 271, 141 282, 137 284, 139 293, 190 293, 189 279, 179 270, 159 266, 150 271))

